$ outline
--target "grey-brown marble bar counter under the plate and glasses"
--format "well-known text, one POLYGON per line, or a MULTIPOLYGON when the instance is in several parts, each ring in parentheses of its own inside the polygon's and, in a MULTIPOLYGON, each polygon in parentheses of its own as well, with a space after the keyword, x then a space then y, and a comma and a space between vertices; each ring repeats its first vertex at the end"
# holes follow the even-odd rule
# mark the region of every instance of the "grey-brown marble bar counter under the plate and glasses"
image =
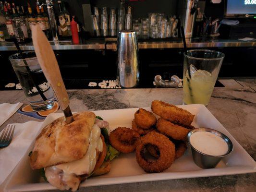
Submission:
MULTIPOLYGON (((207 108, 256 160, 256 80, 220 80, 207 108)), ((149 107, 154 99, 182 104, 181 88, 69 90, 72 111, 149 107)), ((27 103, 22 91, 0 91, 0 103, 27 103)), ((36 120, 15 113, 9 123, 36 120)), ((79 192, 255 192, 256 173, 81 188, 79 192)))

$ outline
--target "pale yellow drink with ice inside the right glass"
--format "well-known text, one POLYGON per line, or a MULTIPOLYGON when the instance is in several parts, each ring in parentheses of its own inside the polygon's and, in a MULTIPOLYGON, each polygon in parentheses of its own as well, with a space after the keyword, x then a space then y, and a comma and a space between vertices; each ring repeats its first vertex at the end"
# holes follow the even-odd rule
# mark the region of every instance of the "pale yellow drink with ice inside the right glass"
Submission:
POLYGON ((183 102, 185 104, 208 105, 217 77, 205 70, 197 70, 183 78, 183 102))

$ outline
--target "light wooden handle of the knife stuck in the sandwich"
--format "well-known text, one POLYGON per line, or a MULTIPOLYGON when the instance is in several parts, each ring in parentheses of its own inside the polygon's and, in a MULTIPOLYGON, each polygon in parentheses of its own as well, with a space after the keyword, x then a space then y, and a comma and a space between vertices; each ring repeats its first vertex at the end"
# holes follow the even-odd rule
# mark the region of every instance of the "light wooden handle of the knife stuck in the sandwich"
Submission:
POLYGON ((44 32, 38 24, 31 25, 32 40, 37 55, 37 60, 44 72, 44 75, 58 99, 61 109, 69 106, 69 97, 63 83, 60 68, 55 54, 44 32))

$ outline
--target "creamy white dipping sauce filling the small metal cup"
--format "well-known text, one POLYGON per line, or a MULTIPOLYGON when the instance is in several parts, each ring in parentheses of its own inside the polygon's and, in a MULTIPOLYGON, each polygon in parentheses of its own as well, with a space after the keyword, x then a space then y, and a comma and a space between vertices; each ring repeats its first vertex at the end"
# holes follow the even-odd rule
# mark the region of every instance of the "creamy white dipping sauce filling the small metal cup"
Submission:
POLYGON ((212 132, 194 132, 190 136, 190 144, 201 153, 210 156, 223 156, 228 152, 228 144, 212 132))

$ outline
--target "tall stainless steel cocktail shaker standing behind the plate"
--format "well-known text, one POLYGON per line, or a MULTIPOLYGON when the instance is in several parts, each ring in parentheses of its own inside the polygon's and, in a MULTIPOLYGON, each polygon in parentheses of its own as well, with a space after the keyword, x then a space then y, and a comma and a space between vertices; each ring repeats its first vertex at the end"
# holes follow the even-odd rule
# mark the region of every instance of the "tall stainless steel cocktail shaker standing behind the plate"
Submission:
POLYGON ((138 41, 135 31, 120 31, 117 39, 118 79, 124 88, 139 82, 138 41))

